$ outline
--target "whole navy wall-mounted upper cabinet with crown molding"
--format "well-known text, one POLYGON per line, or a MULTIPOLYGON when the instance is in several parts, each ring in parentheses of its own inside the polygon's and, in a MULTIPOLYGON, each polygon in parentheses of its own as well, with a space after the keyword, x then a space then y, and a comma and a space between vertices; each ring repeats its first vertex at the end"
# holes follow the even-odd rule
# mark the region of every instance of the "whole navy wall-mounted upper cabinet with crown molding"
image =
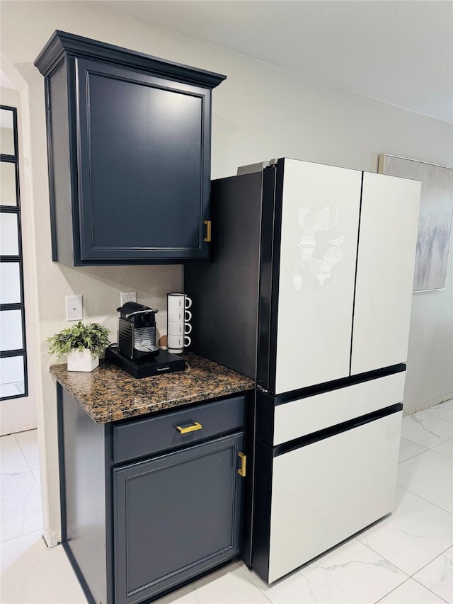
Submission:
POLYGON ((225 76, 56 31, 45 76, 52 259, 208 257, 211 90, 225 76))

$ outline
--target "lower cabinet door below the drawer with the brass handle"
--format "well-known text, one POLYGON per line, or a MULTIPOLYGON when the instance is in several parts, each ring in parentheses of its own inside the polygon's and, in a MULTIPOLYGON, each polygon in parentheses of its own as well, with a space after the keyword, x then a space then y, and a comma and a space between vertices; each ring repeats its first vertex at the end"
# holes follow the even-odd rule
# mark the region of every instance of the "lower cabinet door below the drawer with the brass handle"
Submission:
POLYGON ((114 470, 115 603, 138 603, 240 552, 243 433, 114 470))

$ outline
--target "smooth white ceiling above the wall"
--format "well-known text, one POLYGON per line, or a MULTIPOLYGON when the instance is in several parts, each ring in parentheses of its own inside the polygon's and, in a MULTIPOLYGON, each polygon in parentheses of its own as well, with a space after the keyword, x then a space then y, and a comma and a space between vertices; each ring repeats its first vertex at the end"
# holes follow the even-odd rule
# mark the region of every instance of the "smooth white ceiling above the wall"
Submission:
POLYGON ((96 4, 453 122, 452 0, 100 0, 96 4))

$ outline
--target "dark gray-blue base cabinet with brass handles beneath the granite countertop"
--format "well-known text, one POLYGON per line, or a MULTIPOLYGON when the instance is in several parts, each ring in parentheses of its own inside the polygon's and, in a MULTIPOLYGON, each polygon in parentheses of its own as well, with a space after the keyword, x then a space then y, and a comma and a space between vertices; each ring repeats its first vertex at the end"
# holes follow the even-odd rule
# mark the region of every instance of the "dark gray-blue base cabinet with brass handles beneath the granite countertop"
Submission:
POLYGON ((98 425, 58 392, 62 540, 89 602, 147 602, 239 556, 244 396, 98 425))

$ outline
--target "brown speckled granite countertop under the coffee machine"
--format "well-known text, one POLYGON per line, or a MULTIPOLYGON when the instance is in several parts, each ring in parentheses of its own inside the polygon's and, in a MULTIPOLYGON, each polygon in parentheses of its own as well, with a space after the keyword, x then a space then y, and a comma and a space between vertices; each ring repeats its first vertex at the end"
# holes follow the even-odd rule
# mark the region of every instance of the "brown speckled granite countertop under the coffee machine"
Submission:
POLYGON ((67 365, 52 365, 50 372, 96 423, 224 397, 255 385, 250 378, 193 353, 183 359, 184 371, 140 379, 105 360, 91 373, 68 371, 67 365))

